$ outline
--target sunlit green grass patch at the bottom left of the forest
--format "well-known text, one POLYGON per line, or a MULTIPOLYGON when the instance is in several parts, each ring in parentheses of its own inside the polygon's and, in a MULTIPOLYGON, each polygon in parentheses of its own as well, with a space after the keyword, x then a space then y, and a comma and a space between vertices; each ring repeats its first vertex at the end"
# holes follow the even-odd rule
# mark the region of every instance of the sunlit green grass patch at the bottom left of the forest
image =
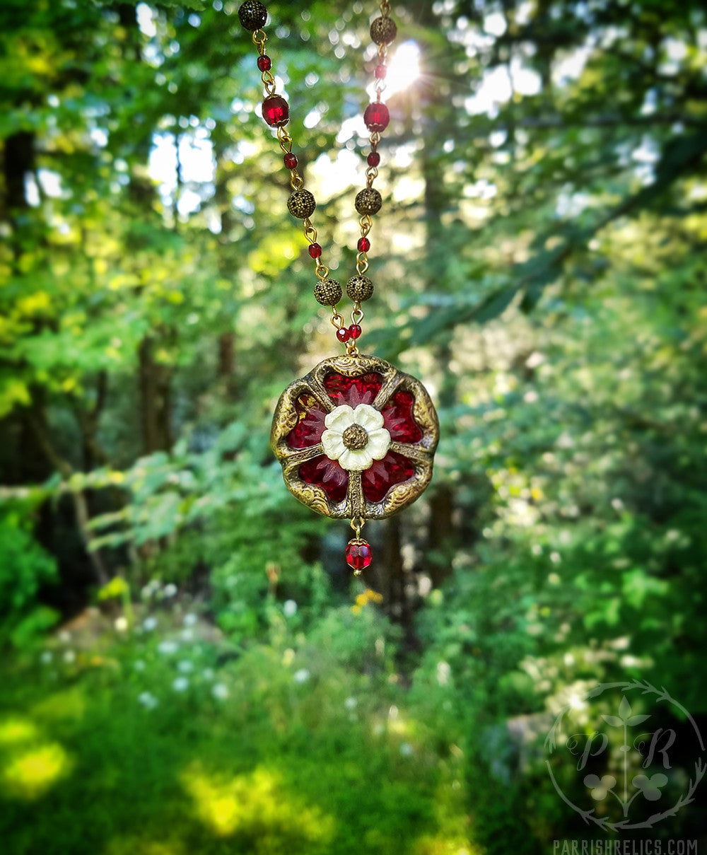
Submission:
POLYGON ((460 760, 385 669, 268 645, 219 664, 217 642, 176 643, 103 634, 5 660, 3 852, 476 852, 460 760))

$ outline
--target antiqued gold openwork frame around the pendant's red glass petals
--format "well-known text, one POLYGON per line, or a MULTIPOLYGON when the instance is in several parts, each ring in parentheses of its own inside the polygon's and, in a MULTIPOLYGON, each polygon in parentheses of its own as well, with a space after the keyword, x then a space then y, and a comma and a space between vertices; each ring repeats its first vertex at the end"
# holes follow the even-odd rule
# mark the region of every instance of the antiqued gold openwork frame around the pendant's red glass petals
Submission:
POLYGON ((275 457, 282 464, 282 476, 287 489, 312 510, 335 519, 362 517, 368 520, 380 520, 386 516, 392 516, 414 502, 432 479, 433 457, 438 441, 437 413, 427 394, 427 389, 421 382, 399 371, 383 359, 362 355, 325 359, 309 374, 287 386, 275 407, 273 428, 270 432, 270 445, 275 457), (412 415, 421 428, 422 439, 410 444, 393 441, 390 447, 390 451, 397 451, 414 464, 415 475, 409 481, 392 486, 380 502, 369 502, 365 498, 360 472, 349 472, 347 496, 340 502, 333 502, 328 498, 321 486, 308 484, 299 477, 299 467, 308 460, 324 454, 324 449, 321 442, 308 448, 292 448, 287 445, 287 436, 298 423, 296 402, 300 395, 309 394, 316 398, 324 410, 331 412, 337 404, 329 397, 324 387, 324 379, 329 372, 336 372, 345 377, 357 377, 371 372, 380 374, 383 385, 372 404, 376 410, 382 410, 395 392, 410 392, 415 400, 412 415))

